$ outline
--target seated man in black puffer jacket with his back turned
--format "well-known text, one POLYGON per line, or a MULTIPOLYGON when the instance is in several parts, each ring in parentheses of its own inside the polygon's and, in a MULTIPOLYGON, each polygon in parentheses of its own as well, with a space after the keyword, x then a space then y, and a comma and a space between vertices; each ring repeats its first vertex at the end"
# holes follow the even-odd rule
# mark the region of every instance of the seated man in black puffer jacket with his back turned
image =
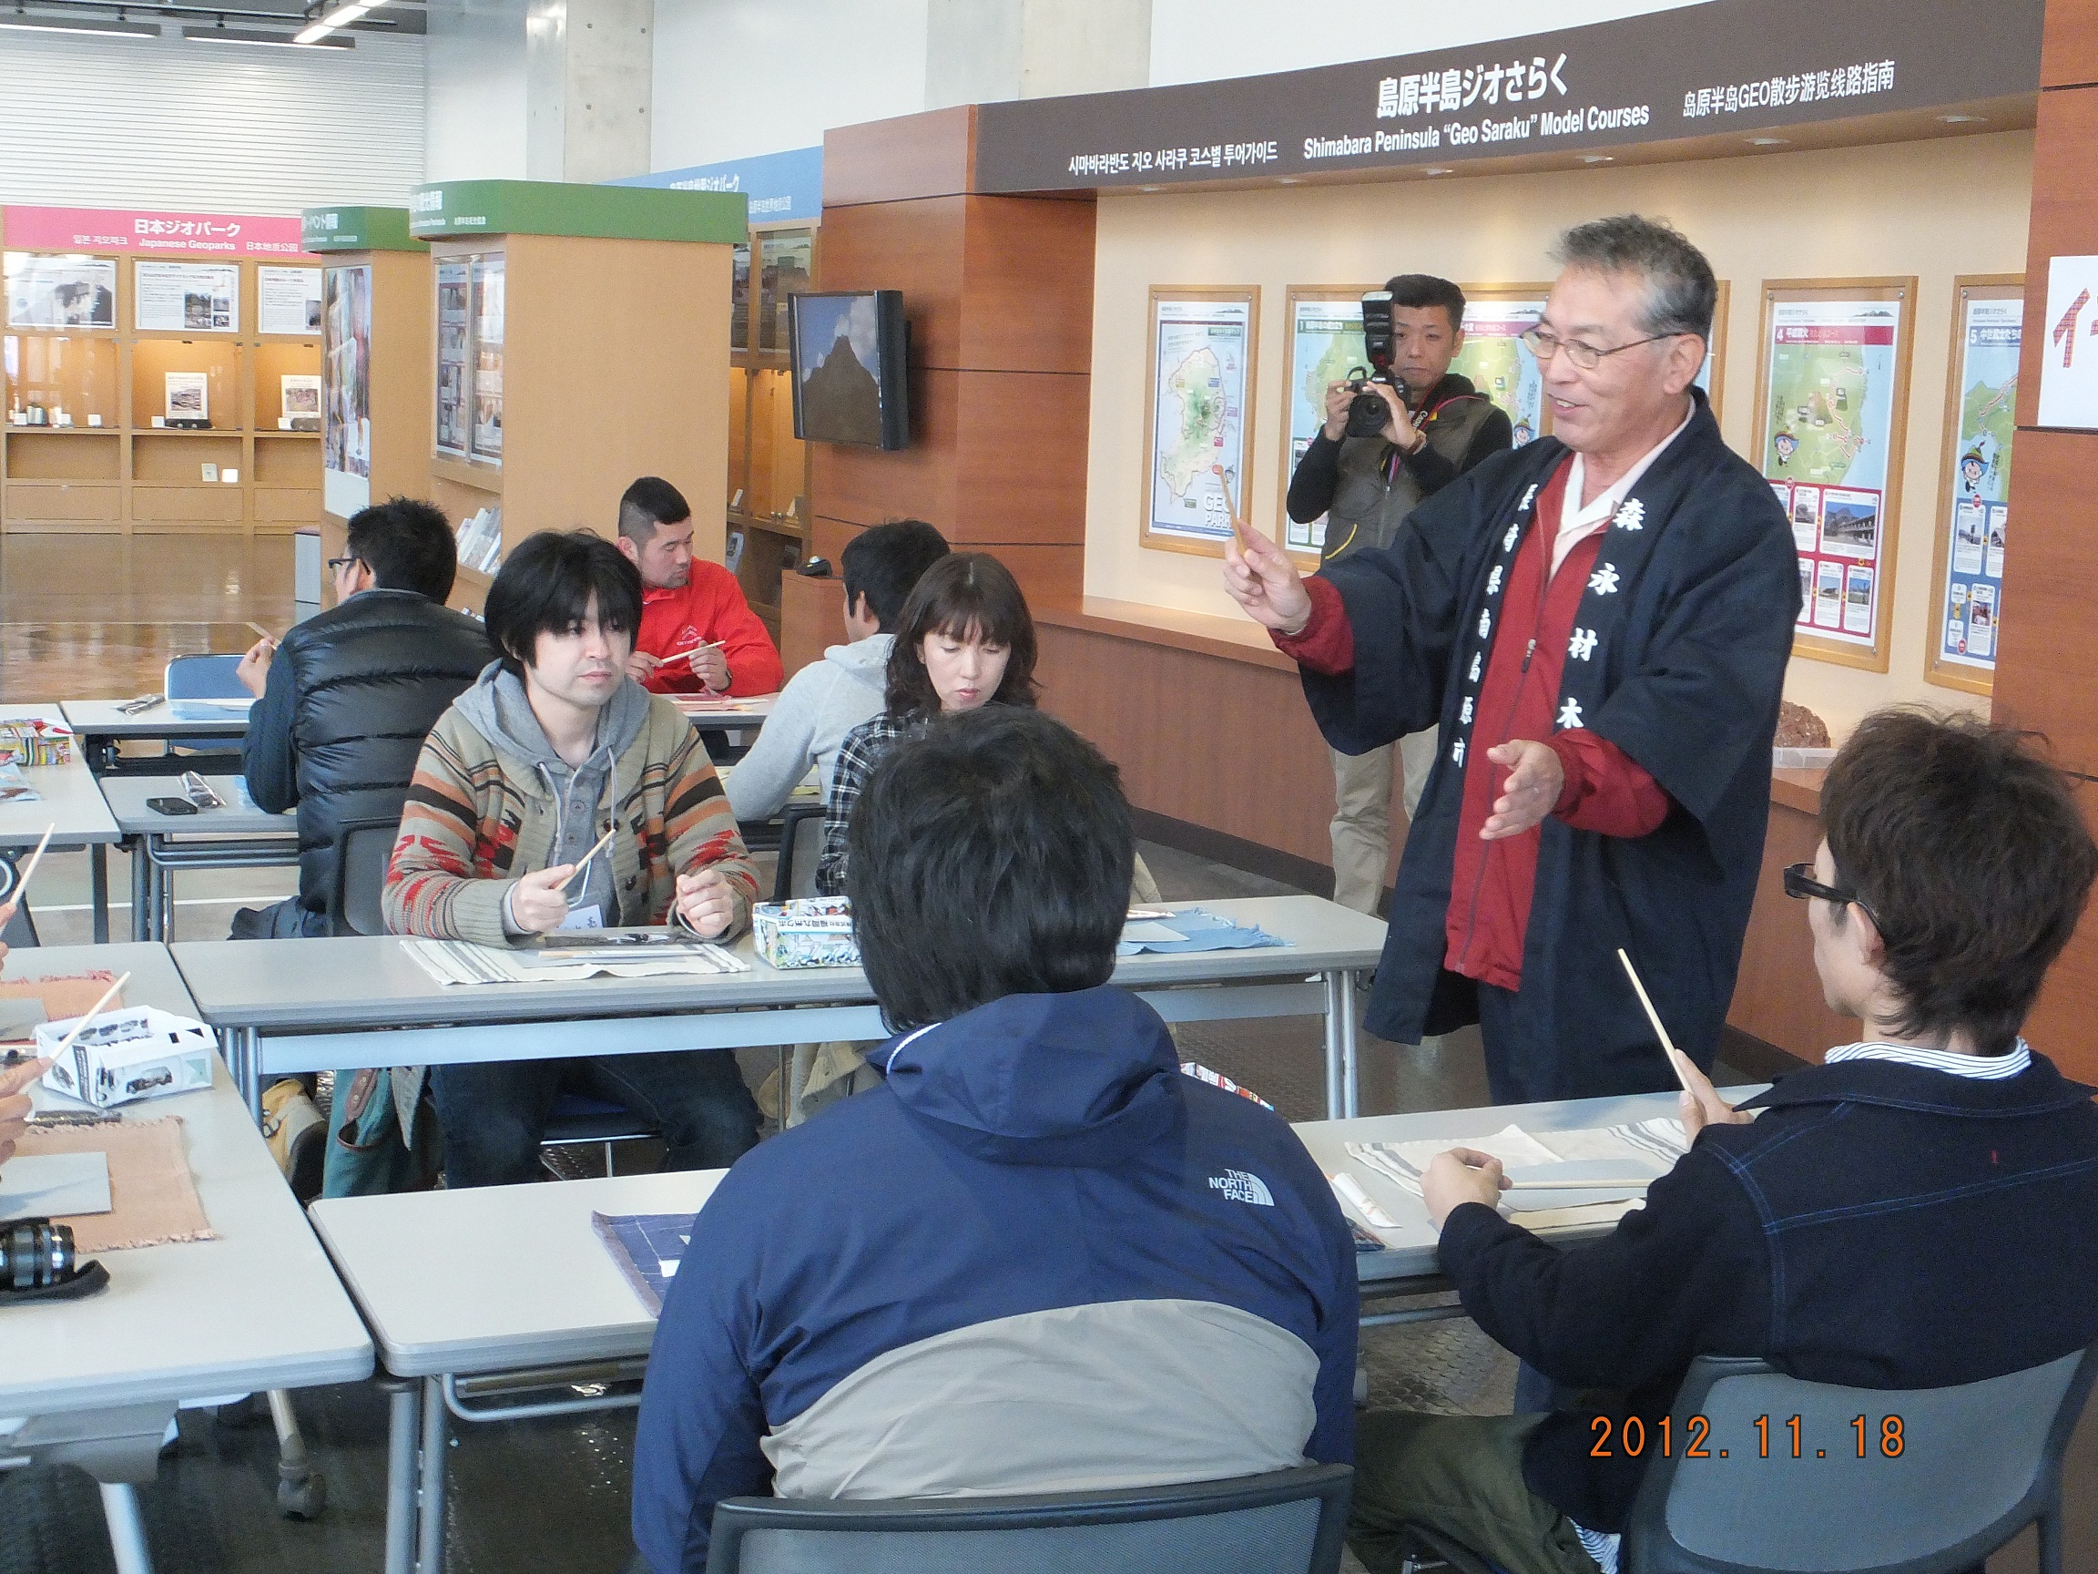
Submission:
POLYGON ((401 814, 430 726, 489 665, 480 623, 445 607, 459 567, 430 504, 394 497, 350 516, 329 560, 336 604, 241 657, 256 695, 241 747, 248 795, 298 808, 298 896, 233 915, 235 940, 327 934, 336 837, 401 814))

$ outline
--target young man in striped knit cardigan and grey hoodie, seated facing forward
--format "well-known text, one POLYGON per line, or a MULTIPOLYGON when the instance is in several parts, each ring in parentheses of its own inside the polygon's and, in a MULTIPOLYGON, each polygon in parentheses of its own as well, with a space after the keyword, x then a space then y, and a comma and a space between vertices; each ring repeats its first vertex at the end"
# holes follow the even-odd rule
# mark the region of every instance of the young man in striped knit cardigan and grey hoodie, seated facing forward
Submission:
MULTIPOLYGON (((707 749, 627 672, 640 573, 587 531, 522 541, 489 588, 497 659, 424 743, 386 873, 394 934, 516 944, 554 930, 749 926, 757 875, 707 749), (600 846, 602 842, 602 846, 600 846)), ((667 1169, 732 1163, 757 1106, 726 1049, 436 1066, 451 1186, 539 1173, 569 1089, 661 1125, 667 1169)))

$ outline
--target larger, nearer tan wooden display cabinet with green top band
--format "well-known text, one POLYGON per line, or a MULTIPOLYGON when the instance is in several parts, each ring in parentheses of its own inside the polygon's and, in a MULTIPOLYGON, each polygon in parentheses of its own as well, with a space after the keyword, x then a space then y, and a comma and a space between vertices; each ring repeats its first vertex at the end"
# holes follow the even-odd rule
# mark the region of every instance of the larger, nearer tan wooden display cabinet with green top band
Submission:
MULTIPOLYGON (((430 495, 455 529, 497 508, 506 548, 611 535, 644 474, 722 495, 730 397, 692 367, 724 365, 730 332, 694 302, 732 296, 741 195, 447 180, 420 191, 411 229, 432 273, 430 495)), ((720 558, 720 529, 703 516, 694 550, 720 558)), ((485 590, 468 562, 453 602, 485 590)))

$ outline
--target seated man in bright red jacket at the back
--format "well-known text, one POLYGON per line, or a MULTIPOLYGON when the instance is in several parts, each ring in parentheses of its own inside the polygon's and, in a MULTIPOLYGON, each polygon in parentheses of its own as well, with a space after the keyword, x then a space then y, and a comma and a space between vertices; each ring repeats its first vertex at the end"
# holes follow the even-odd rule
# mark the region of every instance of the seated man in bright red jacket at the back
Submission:
POLYGON ((642 571, 642 628, 627 672, 657 695, 772 695, 780 653, 720 562, 692 556, 692 510, 661 476, 619 499, 619 550, 642 571))

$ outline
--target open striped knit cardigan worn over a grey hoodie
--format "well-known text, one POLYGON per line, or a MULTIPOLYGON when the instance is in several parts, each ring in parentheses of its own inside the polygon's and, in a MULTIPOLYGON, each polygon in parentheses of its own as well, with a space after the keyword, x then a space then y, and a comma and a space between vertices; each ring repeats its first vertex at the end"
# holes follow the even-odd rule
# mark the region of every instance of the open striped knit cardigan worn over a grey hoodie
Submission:
MULTIPOLYGON (((619 913, 608 921, 663 923, 678 875, 713 865, 736 896, 734 923, 722 938, 743 934, 757 871, 699 732, 661 695, 621 751, 615 781, 615 812, 631 835, 613 839, 619 913)), ((531 762, 499 749, 453 705, 430 728, 407 789, 386 869, 386 928, 510 942, 504 898, 518 875, 552 863, 554 821, 554 797, 531 762)))

